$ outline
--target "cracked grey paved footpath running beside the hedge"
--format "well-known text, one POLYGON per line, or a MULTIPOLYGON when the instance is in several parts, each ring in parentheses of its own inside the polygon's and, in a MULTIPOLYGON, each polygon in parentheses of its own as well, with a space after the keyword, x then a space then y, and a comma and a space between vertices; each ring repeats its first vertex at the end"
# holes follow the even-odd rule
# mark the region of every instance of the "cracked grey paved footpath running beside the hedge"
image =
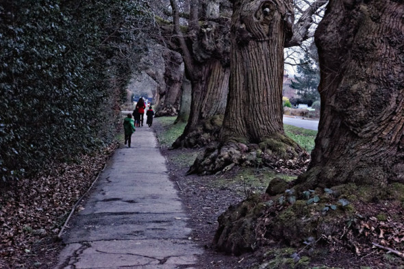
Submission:
MULTIPOLYGON (((146 119, 144 119, 146 121, 146 119)), ((70 220, 56 268, 194 268, 187 215, 149 127, 117 149, 70 220)))

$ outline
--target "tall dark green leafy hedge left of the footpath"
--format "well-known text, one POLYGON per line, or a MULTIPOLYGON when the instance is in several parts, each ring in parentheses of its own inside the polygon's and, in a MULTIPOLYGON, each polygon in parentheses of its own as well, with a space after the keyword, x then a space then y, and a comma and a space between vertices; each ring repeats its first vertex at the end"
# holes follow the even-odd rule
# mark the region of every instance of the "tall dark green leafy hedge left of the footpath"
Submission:
POLYGON ((0 4, 0 181, 110 143, 144 40, 143 1, 0 4))

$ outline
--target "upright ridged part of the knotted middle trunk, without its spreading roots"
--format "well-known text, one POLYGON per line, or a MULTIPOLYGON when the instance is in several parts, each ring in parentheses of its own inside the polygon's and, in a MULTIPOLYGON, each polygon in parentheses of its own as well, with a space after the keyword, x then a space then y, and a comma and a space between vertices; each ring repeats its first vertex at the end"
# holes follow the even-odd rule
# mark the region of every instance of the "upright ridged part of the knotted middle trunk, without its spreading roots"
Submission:
POLYGON ((233 2, 231 74, 221 140, 263 142, 283 133, 283 45, 291 1, 233 2))

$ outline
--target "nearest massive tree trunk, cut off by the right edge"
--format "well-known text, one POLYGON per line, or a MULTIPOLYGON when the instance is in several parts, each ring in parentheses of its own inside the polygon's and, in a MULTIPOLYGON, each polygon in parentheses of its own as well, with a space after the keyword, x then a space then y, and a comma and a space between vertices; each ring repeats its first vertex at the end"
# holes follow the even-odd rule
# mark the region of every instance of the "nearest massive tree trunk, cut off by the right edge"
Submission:
POLYGON ((316 31, 321 114, 307 187, 404 183, 403 14, 403 1, 329 2, 316 31))

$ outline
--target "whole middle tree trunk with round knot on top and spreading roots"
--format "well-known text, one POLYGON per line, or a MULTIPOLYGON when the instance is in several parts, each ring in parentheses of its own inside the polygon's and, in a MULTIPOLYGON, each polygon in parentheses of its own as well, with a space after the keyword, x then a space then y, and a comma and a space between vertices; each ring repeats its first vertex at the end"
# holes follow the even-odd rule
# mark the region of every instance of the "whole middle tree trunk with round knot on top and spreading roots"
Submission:
POLYGON ((274 166, 307 157, 282 123, 283 47, 292 33, 292 1, 233 1, 231 75, 220 149, 211 147, 189 172, 232 164, 274 166))

